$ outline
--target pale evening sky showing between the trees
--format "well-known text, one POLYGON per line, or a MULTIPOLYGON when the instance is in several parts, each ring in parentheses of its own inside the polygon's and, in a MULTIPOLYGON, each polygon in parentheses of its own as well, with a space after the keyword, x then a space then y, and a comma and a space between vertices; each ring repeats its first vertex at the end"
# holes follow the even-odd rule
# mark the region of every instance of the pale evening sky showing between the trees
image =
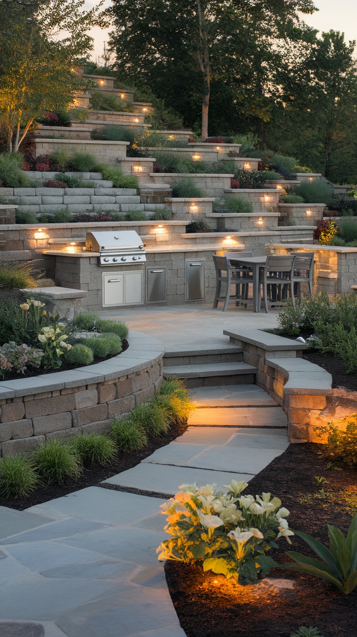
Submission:
MULTIPOLYGON (((109 0, 107 1, 109 4, 109 0)), ((90 9, 97 4, 95 0, 86 0, 85 8, 90 9)), ((313 15, 302 16, 307 24, 319 29, 319 31, 344 31, 346 40, 357 39, 357 0, 315 0, 315 6, 319 9, 313 15)), ((103 43, 108 42, 110 29, 93 29, 94 51, 92 59, 102 55, 103 43)))

